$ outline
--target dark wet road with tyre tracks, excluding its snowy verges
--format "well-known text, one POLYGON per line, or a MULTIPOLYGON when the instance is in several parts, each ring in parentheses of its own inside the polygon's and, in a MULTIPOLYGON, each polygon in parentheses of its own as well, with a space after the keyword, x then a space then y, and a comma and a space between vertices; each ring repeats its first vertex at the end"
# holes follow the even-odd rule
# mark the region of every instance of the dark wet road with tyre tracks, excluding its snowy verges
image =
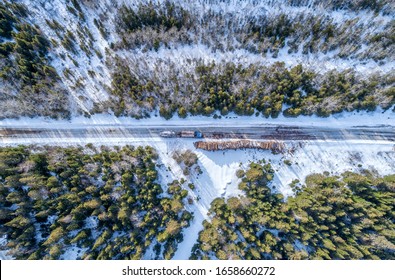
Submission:
MULTIPOLYGON (((160 132, 198 130, 205 138, 256 139, 256 140, 344 140, 344 141, 395 141, 395 129, 392 126, 334 128, 318 126, 261 125, 249 127, 214 126, 87 126, 85 128, 18 128, 0 127, 0 145, 47 144, 73 145, 97 143, 112 145, 115 143, 133 144, 141 141, 166 141, 158 139, 160 132)), ((180 139, 181 140, 181 139, 180 139)))

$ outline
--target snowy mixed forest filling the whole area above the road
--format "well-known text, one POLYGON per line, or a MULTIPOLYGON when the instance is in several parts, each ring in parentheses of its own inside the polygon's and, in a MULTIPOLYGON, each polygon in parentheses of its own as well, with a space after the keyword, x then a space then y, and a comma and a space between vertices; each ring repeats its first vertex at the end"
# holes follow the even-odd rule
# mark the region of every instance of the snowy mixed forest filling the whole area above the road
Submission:
POLYGON ((325 117, 395 102, 391 1, 3 1, 0 13, 0 118, 325 117))

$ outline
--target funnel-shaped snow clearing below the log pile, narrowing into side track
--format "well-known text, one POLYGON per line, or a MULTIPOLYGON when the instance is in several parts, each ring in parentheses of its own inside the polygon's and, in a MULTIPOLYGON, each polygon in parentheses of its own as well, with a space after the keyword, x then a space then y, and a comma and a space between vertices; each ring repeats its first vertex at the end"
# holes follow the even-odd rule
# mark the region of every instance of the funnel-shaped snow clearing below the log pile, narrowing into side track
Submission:
MULTIPOLYGON (((160 162, 170 167, 170 180, 185 178, 187 183, 195 185, 194 191, 189 191, 194 199, 193 205, 187 205, 188 211, 193 212, 194 219, 187 229, 184 229, 184 240, 178 245, 173 259, 188 259, 192 246, 196 243, 198 233, 203 229, 202 222, 208 219, 207 212, 211 202, 217 197, 231 197, 241 195, 237 188, 238 179, 236 170, 240 168, 241 162, 255 159, 256 151, 228 151, 228 152, 206 152, 195 150, 193 140, 164 140, 147 142, 153 146, 160 157, 160 162), (175 150, 193 150, 198 156, 198 165, 203 174, 184 176, 180 166, 172 159, 171 153, 175 150)), ((160 172, 161 174, 161 172, 160 172)), ((162 177, 162 176, 161 176, 162 177)), ((164 185, 164 184, 162 184, 164 185)))

